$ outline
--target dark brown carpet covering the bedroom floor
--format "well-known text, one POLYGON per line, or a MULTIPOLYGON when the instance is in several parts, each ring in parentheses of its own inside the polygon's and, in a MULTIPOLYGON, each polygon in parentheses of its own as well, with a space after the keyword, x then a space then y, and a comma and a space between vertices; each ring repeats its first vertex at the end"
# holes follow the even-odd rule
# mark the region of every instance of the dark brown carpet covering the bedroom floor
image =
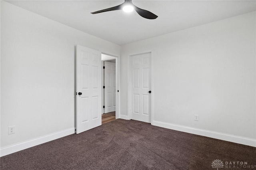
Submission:
POLYGON ((256 148, 118 119, 0 162, 1 170, 251 170, 256 169, 256 148), (224 167, 212 167, 214 160, 224 167), (247 162, 247 167, 227 168, 226 161, 247 162))

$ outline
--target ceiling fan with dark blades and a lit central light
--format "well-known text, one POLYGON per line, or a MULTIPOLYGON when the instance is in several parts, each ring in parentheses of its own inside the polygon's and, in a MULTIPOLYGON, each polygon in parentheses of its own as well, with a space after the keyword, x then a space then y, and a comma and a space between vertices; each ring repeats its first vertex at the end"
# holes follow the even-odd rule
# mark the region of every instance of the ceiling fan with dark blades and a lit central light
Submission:
POLYGON ((158 17, 155 14, 153 14, 152 12, 138 8, 137 6, 132 4, 132 0, 124 0, 124 3, 122 3, 118 6, 114 6, 112 8, 107 8, 104 10, 92 12, 91 14, 98 14, 101 12, 108 12, 108 11, 114 11, 114 10, 124 10, 125 12, 132 12, 133 10, 135 10, 140 16, 150 19, 150 20, 156 19, 158 17))

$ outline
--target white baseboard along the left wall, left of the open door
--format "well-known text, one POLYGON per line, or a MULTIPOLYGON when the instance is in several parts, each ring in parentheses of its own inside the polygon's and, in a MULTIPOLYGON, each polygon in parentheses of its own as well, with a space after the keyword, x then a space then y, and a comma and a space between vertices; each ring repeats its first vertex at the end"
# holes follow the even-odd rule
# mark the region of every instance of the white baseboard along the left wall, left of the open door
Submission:
POLYGON ((56 132, 56 133, 52 133, 46 136, 42 136, 40 138, 36 138, 36 139, 32 139, 32 140, 28 140, 26 142, 22 142, 22 143, 18 143, 18 144, 14 144, 11 146, 6 146, 0 149, 0 156, 5 156, 8 154, 12 154, 14 152, 18 152, 20 150, 24 150, 33 146, 36 146, 38 144, 43 144, 45 142, 49 142, 51 140, 55 140, 58 138, 62 138, 64 136, 68 136, 70 134, 74 134, 75 133, 75 128, 70 128, 70 129, 66 129, 60 132, 56 132))

